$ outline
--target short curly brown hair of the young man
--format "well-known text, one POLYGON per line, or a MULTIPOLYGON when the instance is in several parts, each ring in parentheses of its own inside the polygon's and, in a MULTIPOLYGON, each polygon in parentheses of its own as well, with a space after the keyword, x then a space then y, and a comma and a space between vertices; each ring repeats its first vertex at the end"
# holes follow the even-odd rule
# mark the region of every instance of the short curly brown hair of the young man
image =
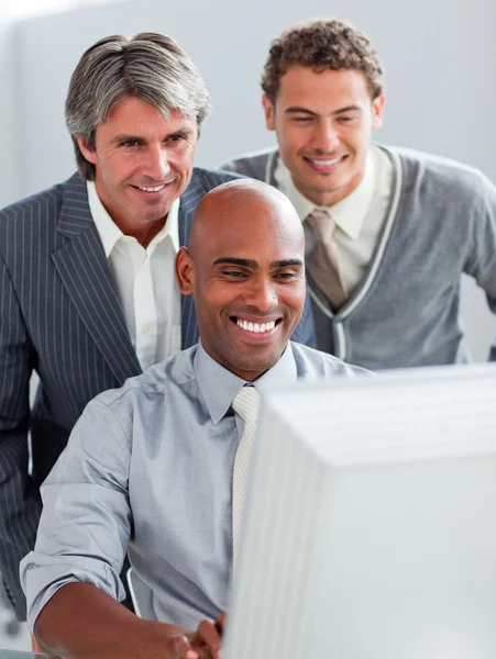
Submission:
POLYGON ((384 90, 383 67, 371 40, 351 23, 338 19, 296 23, 272 42, 262 74, 262 89, 274 103, 279 80, 291 66, 363 71, 376 99, 384 90))

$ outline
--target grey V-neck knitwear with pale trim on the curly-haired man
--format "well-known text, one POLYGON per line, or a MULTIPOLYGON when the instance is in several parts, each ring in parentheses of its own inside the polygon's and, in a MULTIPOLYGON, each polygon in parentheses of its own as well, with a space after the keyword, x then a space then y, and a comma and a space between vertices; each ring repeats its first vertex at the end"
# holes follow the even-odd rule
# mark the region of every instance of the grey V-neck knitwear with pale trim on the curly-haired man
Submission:
MULTIPOLYGON (((393 189, 363 280, 337 313, 308 281, 317 346, 373 370, 467 361, 460 278, 474 277, 496 312, 496 188, 460 163, 382 148, 393 189)), ((271 149, 222 168, 275 186, 277 158, 271 149)))

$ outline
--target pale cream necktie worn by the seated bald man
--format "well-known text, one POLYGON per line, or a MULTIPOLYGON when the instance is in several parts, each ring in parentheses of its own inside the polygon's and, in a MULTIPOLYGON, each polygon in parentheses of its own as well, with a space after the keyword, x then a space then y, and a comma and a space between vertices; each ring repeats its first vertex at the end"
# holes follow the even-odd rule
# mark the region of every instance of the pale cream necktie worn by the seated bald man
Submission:
POLYGON ((234 565, 240 540, 244 500, 246 495, 246 479, 253 439, 256 432, 258 405, 260 393, 254 387, 243 387, 232 401, 234 412, 244 421, 243 435, 234 458, 234 472, 232 478, 232 545, 234 565))

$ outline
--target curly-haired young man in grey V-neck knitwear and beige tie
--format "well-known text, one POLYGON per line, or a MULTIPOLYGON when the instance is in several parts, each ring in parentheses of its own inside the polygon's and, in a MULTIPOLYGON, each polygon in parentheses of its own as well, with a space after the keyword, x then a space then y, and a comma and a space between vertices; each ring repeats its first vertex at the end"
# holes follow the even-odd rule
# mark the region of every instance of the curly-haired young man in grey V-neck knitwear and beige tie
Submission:
POLYGON ((474 277, 496 312, 495 187, 460 163, 372 143, 383 66, 350 23, 285 31, 262 89, 278 148, 222 168, 272 183, 297 209, 318 347, 371 369, 469 360, 460 279, 474 277))

